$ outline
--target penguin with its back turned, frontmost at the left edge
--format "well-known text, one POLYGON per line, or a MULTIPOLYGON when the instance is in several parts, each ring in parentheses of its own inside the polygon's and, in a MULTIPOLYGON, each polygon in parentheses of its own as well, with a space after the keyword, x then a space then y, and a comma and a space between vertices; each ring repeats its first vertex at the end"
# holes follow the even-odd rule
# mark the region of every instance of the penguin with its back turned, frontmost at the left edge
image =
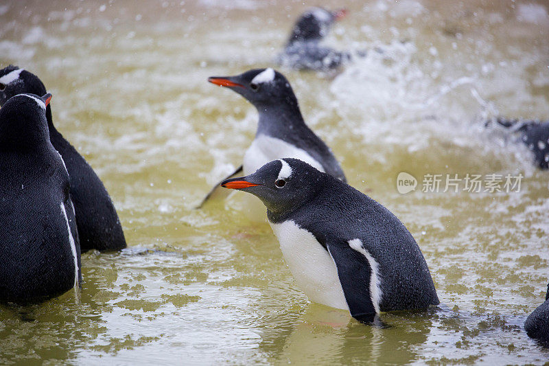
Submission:
POLYGON ((80 283, 80 243, 69 173, 51 146, 51 94, 0 108, 0 301, 55 297, 80 283))

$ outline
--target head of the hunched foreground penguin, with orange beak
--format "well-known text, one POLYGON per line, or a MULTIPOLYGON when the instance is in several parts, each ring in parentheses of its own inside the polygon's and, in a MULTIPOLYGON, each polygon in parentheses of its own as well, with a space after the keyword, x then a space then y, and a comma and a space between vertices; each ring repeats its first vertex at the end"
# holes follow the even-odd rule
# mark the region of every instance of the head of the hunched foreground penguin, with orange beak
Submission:
POLYGON ((274 214, 285 214, 310 201, 322 189, 323 173, 299 159, 270 161, 255 173, 226 179, 222 187, 257 196, 274 214))

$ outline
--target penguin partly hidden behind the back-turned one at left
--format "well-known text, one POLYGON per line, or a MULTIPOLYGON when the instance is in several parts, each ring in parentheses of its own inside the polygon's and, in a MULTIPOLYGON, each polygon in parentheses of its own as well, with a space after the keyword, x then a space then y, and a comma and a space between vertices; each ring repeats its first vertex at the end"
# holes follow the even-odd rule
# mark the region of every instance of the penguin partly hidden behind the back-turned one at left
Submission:
MULTIPOLYGON (((0 106, 19 93, 46 93, 37 76, 9 66, 0 71, 0 106)), ((124 231, 113 202, 102 181, 84 157, 56 130, 51 120, 51 107, 46 110, 49 138, 67 165, 71 177, 71 200, 76 212, 82 253, 90 249, 109 251, 126 247, 124 231)))

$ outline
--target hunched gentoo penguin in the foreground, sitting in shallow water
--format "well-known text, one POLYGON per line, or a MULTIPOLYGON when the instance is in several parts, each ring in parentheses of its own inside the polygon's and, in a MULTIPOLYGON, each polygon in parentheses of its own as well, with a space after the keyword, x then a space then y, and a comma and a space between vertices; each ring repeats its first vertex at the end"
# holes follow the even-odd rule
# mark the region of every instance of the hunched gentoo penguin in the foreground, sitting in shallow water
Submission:
POLYGON ((347 183, 298 159, 279 159, 221 185, 263 201, 285 262, 311 301, 359 320, 439 304, 410 232, 347 183))

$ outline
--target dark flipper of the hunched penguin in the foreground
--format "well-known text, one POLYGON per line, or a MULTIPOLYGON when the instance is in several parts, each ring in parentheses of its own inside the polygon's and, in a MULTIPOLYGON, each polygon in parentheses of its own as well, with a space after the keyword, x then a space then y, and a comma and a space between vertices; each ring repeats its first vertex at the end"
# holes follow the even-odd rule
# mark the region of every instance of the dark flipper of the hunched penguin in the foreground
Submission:
POLYGON ((326 247, 338 268, 351 316, 361 322, 373 321, 377 311, 371 296, 372 268, 369 260, 344 240, 327 241, 326 247))

